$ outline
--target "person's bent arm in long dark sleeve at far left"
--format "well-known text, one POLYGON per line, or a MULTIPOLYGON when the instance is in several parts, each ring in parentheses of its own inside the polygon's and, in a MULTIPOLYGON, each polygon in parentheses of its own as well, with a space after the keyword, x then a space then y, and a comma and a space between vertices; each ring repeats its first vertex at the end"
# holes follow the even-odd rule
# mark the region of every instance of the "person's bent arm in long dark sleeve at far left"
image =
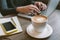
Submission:
POLYGON ((17 13, 16 8, 8 8, 6 0, 1 0, 1 13, 2 15, 8 15, 11 13, 17 13))

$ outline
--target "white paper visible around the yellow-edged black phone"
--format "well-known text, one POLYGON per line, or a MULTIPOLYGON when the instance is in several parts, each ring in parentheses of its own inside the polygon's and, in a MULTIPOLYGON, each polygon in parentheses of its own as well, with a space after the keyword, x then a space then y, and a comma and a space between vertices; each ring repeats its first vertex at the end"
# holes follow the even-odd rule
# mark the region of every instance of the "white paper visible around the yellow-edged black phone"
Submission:
MULTIPOLYGON (((14 32, 14 33, 12 33, 12 34, 22 32, 22 28, 21 28, 21 25, 20 25, 20 23, 19 23, 19 21, 18 21, 17 16, 12 17, 12 18, 13 18, 13 20, 14 20, 14 22, 15 22, 15 24, 16 24, 16 28, 17 28, 17 30, 18 30, 17 32, 14 32)), ((9 21, 12 22, 11 17, 10 17, 10 18, 2 18, 2 19, 0 19, 0 23, 5 23, 5 22, 9 22, 9 21)), ((13 22, 12 22, 12 23, 13 23, 13 22)), ((4 35, 6 35, 6 34, 4 33, 2 27, 0 26, 0 36, 4 36, 4 35)))

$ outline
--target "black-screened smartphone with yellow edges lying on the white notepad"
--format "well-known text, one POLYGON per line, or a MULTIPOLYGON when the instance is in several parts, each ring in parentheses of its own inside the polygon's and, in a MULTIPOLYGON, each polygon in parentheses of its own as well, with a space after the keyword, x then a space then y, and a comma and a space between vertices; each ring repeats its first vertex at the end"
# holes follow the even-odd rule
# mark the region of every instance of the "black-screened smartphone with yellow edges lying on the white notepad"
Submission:
POLYGON ((3 31, 7 34, 17 31, 17 28, 11 22, 2 23, 1 26, 3 31))

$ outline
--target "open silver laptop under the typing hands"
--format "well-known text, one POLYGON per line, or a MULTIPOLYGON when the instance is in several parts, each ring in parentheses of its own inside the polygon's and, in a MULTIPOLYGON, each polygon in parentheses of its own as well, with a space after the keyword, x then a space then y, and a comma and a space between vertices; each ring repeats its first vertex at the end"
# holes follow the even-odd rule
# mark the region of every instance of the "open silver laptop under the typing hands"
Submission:
MULTIPOLYGON (((48 2, 48 8, 44 11, 41 11, 43 15, 50 16, 52 12, 56 9, 58 3, 60 0, 49 0, 48 2)), ((28 14, 22 14, 18 13, 18 16, 25 17, 25 18, 31 18, 33 15, 28 13, 28 14)))

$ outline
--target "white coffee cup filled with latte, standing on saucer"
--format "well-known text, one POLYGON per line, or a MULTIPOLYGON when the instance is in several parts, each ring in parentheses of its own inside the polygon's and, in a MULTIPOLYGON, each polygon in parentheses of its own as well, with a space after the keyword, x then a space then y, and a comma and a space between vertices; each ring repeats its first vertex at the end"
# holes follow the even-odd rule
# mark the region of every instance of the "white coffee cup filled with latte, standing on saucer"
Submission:
POLYGON ((31 18, 32 25, 36 32, 43 32, 46 28, 47 17, 44 15, 36 15, 31 18))

